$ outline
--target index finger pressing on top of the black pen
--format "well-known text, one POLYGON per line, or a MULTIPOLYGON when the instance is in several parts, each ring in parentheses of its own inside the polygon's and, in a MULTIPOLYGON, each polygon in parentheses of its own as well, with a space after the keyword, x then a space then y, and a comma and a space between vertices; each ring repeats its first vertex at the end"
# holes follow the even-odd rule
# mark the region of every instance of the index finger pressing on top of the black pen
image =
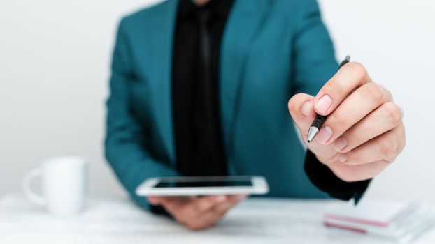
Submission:
POLYGON ((369 82, 369 74, 361 63, 345 64, 315 96, 315 112, 324 116, 331 114, 352 91, 369 82))

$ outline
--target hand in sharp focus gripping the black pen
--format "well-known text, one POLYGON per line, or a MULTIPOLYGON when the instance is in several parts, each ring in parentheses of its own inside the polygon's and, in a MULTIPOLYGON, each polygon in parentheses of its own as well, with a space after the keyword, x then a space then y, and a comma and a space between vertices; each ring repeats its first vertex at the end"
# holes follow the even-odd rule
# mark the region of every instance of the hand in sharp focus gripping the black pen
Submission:
POLYGON ((373 178, 405 146, 401 109, 360 63, 343 66, 315 97, 292 96, 288 107, 304 142, 315 112, 328 116, 306 145, 343 181, 373 178))

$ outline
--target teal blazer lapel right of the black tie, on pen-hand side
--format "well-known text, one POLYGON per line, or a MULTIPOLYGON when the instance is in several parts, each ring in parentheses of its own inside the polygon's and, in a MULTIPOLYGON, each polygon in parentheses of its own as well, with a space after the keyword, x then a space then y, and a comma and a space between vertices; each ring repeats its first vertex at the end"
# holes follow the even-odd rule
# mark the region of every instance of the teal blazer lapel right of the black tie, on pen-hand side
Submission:
POLYGON ((227 20, 220 58, 220 107, 227 153, 234 149, 234 125, 250 45, 266 19, 267 2, 236 0, 227 20))

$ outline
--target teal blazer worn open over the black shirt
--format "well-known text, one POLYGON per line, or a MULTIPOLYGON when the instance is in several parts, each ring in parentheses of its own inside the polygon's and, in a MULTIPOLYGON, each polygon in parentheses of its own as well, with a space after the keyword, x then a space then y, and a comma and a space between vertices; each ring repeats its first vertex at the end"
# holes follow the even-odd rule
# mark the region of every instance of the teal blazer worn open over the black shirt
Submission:
MULTIPOLYGON (((106 158, 136 202, 146 178, 176 176, 171 56, 178 1, 124 17, 113 53, 106 158)), ((262 175, 268 197, 327 197, 308 180, 287 109, 338 68, 315 0, 236 0, 220 55, 220 116, 230 174, 262 175)))

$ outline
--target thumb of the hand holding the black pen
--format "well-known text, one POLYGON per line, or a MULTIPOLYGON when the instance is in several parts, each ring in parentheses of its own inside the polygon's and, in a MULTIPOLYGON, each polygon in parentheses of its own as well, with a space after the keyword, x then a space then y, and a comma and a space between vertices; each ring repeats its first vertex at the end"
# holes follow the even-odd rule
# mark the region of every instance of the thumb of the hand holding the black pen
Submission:
POLYGON ((308 128, 315 118, 313 103, 314 97, 306 93, 298 93, 292 96, 288 103, 290 115, 304 139, 308 133, 308 128))

